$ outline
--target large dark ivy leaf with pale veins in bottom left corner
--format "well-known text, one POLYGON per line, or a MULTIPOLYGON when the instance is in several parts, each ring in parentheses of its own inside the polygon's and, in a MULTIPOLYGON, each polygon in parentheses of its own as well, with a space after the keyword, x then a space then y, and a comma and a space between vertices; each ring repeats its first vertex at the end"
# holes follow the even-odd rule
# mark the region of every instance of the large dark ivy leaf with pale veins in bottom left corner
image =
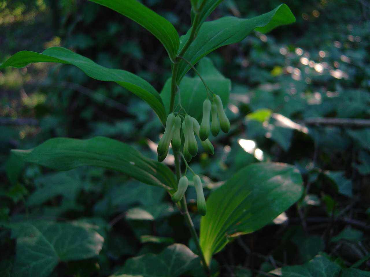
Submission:
POLYGON ((55 222, 17 224, 12 228, 17 236, 14 276, 47 277, 59 261, 97 256, 104 239, 89 226, 55 222))

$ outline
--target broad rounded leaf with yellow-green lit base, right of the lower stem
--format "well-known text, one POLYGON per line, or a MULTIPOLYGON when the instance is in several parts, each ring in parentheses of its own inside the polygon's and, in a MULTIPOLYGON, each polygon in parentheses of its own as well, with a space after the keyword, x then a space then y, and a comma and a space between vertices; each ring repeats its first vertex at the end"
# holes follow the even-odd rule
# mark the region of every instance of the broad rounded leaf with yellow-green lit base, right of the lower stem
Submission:
POLYGON ((302 177, 287 164, 258 163, 238 171, 207 199, 200 243, 206 261, 233 237, 252 233, 293 205, 302 195, 302 177))

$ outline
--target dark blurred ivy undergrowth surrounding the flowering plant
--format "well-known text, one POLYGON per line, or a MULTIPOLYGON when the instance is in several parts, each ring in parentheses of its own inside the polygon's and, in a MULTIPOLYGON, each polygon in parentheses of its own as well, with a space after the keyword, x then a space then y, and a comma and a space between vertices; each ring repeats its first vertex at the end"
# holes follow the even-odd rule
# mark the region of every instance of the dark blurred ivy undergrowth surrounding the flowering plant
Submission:
MULTIPOLYGON (((142 2, 180 35, 188 30, 189 1, 142 2)), ((248 18, 279 4, 225 0, 209 19, 248 18)), ((289 163, 299 168, 305 194, 265 228, 235 238, 215 255, 215 269, 221 276, 295 276, 302 267, 313 276, 320 268, 335 276, 359 276, 358 269, 370 269, 370 128, 311 124, 309 119, 370 119, 370 4, 286 4, 295 24, 267 35, 254 32, 202 61, 231 79, 226 113, 232 129, 212 140, 215 155, 198 155, 192 168, 209 177, 207 194, 248 164, 289 163)), ((0 0, 0 45, 0 62, 20 50, 67 47, 107 68, 133 72, 158 91, 171 75, 165 49, 148 31, 82 0, 0 0)), ((195 78, 188 74, 186 79, 195 78)), ((228 87, 227 79, 221 85, 228 87)), ((145 102, 70 65, 7 68, 0 72, 0 88, 1 276, 10 276, 14 264, 21 269, 42 259, 32 255, 33 247, 53 253, 47 256, 53 257, 46 260, 49 267, 34 268, 51 276, 110 276, 123 264, 127 273, 148 260, 166 260, 174 251, 194 261, 167 269, 169 276, 201 274, 193 266, 199 264, 194 243, 163 189, 101 168, 54 172, 10 156, 11 148, 32 148, 48 138, 107 136, 156 159, 162 125, 145 102), (29 224, 14 223, 21 219, 29 224), (11 231, 9 224, 15 224, 11 231), (68 236, 56 235, 60 232, 68 236), (68 244, 71 237, 81 237, 86 249, 68 244), (44 244, 35 246, 36 239, 44 244)), ((172 166, 171 159, 166 162, 172 166)), ((193 187, 187 198, 189 209, 196 211, 193 187)), ((193 220, 199 229, 199 216, 193 220)))

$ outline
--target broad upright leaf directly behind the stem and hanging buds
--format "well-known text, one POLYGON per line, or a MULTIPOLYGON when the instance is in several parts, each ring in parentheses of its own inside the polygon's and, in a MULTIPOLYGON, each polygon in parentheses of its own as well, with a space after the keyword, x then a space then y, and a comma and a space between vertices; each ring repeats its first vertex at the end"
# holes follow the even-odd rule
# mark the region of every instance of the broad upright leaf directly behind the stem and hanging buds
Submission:
MULTIPOLYGON (((204 58, 199 62, 197 66, 199 74, 206 82, 207 86, 217 95, 221 97, 223 106, 226 107, 229 101, 229 95, 231 90, 231 81, 226 79, 222 74, 215 68, 211 59, 204 58)), ((203 101, 207 97, 206 89, 203 82, 196 75, 194 78, 185 77, 180 83, 181 93, 181 104, 186 112, 195 117, 198 120, 202 118, 202 107, 203 101)), ((165 83, 161 97, 166 109, 169 112, 169 102, 171 98, 171 79, 165 83)), ((175 106, 178 103, 178 94, 175 97, 175 106)), ((176 109, 179 110, 179 107, 176 109)))

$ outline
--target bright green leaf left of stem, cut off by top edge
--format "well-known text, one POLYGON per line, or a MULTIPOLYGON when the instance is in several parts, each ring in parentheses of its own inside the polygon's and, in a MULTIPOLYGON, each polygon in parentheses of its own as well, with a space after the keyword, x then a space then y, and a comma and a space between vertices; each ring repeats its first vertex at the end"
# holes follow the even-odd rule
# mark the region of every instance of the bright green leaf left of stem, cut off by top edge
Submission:
POLYGON ((164 17, 145 7, 137 0, 89 1, 111 8, 140 24, 162 42, 171 60, 175 61, 180 44, 179 35, 175 27, 164 17))

